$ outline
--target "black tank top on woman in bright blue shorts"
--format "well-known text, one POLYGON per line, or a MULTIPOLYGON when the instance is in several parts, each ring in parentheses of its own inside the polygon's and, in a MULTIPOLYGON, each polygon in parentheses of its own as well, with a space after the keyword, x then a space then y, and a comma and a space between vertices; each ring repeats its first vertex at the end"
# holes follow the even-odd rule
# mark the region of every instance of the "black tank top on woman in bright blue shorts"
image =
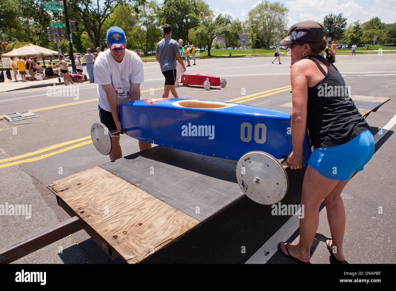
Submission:
POLYGON ((347 143, 365 129, 371 129, 349 96, 344 78, 320 55, 307 55, 324 74, 314 87, 308 87, 307 128, 314 148, 347 143), (319 61, 327 67, 327 74, 319 61))

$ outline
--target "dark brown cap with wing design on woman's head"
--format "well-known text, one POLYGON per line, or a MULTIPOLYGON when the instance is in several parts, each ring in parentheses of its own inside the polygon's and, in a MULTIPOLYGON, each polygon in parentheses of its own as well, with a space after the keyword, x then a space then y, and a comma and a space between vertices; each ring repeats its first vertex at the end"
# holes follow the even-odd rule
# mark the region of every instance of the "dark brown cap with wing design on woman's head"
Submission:
POLYGON ((292 25, 280 44, 289 46, 295 42, 322 42, 324 40, 326 40, 326 34, 323 24, 309 20, 292 25))

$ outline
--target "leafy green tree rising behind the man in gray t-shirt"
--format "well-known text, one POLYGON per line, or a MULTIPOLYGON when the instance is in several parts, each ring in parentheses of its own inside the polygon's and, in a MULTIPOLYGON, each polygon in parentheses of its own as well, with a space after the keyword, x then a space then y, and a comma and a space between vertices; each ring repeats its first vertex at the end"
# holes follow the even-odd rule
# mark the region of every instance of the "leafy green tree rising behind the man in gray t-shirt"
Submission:
POLYGON ((206 17, 213 15, 213 12, 202 0, 165 0, 160 15, 160 21, 163 22, 161 26, 166 23, 171 25, 172 37, 186 40, 188 31, 183 22, 186 15, 190 19, 190 29, 194 29, 202 24, 206 17))

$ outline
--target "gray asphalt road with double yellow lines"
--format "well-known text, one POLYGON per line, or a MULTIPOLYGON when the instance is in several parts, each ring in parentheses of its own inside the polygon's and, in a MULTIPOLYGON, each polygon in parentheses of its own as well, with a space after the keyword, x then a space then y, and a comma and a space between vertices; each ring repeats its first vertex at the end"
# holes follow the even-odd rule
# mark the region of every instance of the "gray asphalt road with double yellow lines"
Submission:
MULTIPOLYGON (((209 91, 202 86, 181 86, 177 92, 180 98, 213 101, 240 98, 234 102, 274 108, 291 101, 290 60, 281 57, 281 65, 273 65, 271 61, 272 57, 197 60, 197 66, 188 67, 186 73, 217 75, 227 80, 227 86, 209 91), (246 97, 256 93, 260 94, 246 97)), ((396 113, 393 97, 396 91, 395 64, 396 54, 337 56, 335 66, 343 74, 346 85, 351 87, 351 95, 391 99, 367 118, 373 134, 396 113)), ((144 63, 144 70, 142 99, 160 98, 164 78, 158 63, 144 63)), ((53 94, 49 88, 43 87, 0 93, 0 115, 22 110, 35 110, 34 113, 39 115, 12 123, 0 121, 0 160, 35 152, 12 164, 0 162, 0 204, 32 205, 30 219, 0 217, 0 247, 44 230, 56 224, 58 219, 69 218, 57 206, 55 196, 46 185, 109 161, 108 156, 99 154, 90 143, 90 126, 99 121, 96 85, 56 86, 57 91, 61 88, 71 91, 53 94), (53 147, 48 149, 49 146, 53 147)), ((347 217, 344 251, 349 263, 396 262, 394 130, 395 127, 383 131, 371 161, 344 189, 347 217), (379 207, 382 207, 382 213, 379 213, 379 207)), ((137 141, 129 137, 121 138, 121 146, 124 156, 138 151, 137 141)), ((282 200, 283 204, 299 204, 304 171, 287 170, 291 190, 282 200)), ((279 237, 298 242, 298 219, 272 216, 271 210, 270 206, 244 198, 143 263, 293 263, 275 253, 276 245, 272 241, 279 237), (266 254, 268 245, 272 248, 270 256, 266 254), (245 253, 241 252, 243 247, 245 253)), ((329 263, 325 245, 329 236, 326 207, 322 207, 311 252, 312 263, 329 263)), ((17 262, 97 263, 112 260, 84 231, 80 231, 17 262)))

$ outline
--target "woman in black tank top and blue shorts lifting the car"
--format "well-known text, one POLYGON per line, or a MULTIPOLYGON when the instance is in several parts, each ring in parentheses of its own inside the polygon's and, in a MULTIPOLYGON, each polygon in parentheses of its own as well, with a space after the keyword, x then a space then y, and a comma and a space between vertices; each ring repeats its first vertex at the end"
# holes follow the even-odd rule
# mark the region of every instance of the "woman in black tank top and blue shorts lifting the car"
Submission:
POLYGON ((278 249, 301 263, 310 261, 310 249, 319 224, 319 207, 326 203, 331 240, 326 241, 333 263, 345 260, 345 209, 341 192, 356 171, 374 153, 370 127, 349 96, 345 81, 332 63, 335 52, 327 47, 324 26, 316 21, 293 25, 280 42, 291 50, 293 151, 291 169, 301 169, 306 128, 314 146, 305 171, 297 245, 279 243, 278 249))

